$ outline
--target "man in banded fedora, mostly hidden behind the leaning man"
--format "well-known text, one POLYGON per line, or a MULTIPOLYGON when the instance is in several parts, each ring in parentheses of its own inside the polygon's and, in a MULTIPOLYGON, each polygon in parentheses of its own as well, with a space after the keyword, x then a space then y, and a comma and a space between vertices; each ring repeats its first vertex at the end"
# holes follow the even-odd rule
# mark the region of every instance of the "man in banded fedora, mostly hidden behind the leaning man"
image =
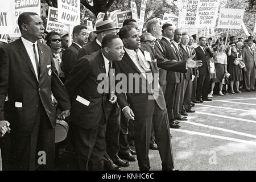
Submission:
MULTIPOLYGON (((81 48, 77 55, 77 60, 85 55, 99 51, 101 49, 101 42, 104 36, 108 34, 117 34, 117 29, 119 28, 115 27, 115 24, 111 19, 96 23, 96 31, 93 32, 97 34, 97 38, 81 48)), ((120 109, 117 104, 115 104, 112 112, 109 115, 106 128, 106 152, 104 155, 104 168, 107 170, 119 171, 121 168, 118 166, 127 167, 130 165, 129 162, 125 162, 119 159, 117 156, 119 151, 119 130, 120 109)))

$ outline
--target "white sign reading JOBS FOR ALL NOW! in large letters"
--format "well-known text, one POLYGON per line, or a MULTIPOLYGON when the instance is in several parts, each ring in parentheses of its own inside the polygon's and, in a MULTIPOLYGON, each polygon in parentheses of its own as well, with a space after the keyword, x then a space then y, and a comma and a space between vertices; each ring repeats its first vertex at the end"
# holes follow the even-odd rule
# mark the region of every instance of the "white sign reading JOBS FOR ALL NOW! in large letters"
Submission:
POLYGON ((58 22, 80 24, 80 0, 58 0, 58 22))

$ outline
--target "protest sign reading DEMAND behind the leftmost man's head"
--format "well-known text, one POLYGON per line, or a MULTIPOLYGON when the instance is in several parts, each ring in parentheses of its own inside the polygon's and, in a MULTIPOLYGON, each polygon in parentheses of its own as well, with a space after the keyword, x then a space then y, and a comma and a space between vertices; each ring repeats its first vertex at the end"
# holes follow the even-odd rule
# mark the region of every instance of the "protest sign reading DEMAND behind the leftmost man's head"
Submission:
MULTIPOLYGON (((6 2, 9 2, 9 1, 5 1, 3 5, 6 4, 6 2)), ((18 26, 19 15, 24 12, 33 12, 40 16, 41 2, 39 0, 15 0, 15 1, 10 1, 10 3, 12 7, 15 7, 15 10, 13 11, 13 16, 12 16, 12 22, 13 22, 13 28, 14 28, 12 32, 14 32, 14 34, 11 34, 10 36, 19 37, 21 35, 19 26, 18 26)))

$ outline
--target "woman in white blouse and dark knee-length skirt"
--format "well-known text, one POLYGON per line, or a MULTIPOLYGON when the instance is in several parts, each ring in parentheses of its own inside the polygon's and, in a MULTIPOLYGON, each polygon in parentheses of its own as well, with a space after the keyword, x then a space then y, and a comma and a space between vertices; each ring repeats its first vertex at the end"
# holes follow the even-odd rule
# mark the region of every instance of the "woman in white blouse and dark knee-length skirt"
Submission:
POLYGON ((215 83, 218 83, 218 82, 220 83, 219 94, 220 94, 220 96, 224 95, 222 93, 222 86, 223 86, 222 80, 224 78, 224 74, 228 73, 227 67, 226 67, 226 65, 227 65, 227 56, 226 56, 226 53, 224 52, 224 50, 225 50, 225 46, 224 46, 224 44, 221 44, 221 46, 216 46, 216 51, 213 53, 213 60, 214 60, 215 71, 216 71, 216 78, 212 79, 211 92, 209 93, 209 96, 212 96, 215 83))

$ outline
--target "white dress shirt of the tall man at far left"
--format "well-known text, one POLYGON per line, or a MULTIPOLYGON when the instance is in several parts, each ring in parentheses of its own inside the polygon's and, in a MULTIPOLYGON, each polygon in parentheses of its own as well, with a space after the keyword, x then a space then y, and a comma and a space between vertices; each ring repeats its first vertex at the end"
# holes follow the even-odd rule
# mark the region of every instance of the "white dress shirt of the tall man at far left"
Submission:
MULTIPOLYGON (((33 49, 33 44, 35 44, 36 56, 38 56, 38 61, 39 61, 38 42, 32 43, 32 42, 24 39, 23 37, 21 37, 21 39, 22 39, 22 42, 24 44, 24 47, 26 48, 28 56, 30 57, 31 63, 33 65, 33 68, 34 68, 34 71, 35 71, 35 75, 36 75, 36 79, 38 79, 38 69, 36 68, 35 53, 34 53, 34 49, 33 49)), ((40 63, 38 63, 38 64, 40 65, 40 63)))

